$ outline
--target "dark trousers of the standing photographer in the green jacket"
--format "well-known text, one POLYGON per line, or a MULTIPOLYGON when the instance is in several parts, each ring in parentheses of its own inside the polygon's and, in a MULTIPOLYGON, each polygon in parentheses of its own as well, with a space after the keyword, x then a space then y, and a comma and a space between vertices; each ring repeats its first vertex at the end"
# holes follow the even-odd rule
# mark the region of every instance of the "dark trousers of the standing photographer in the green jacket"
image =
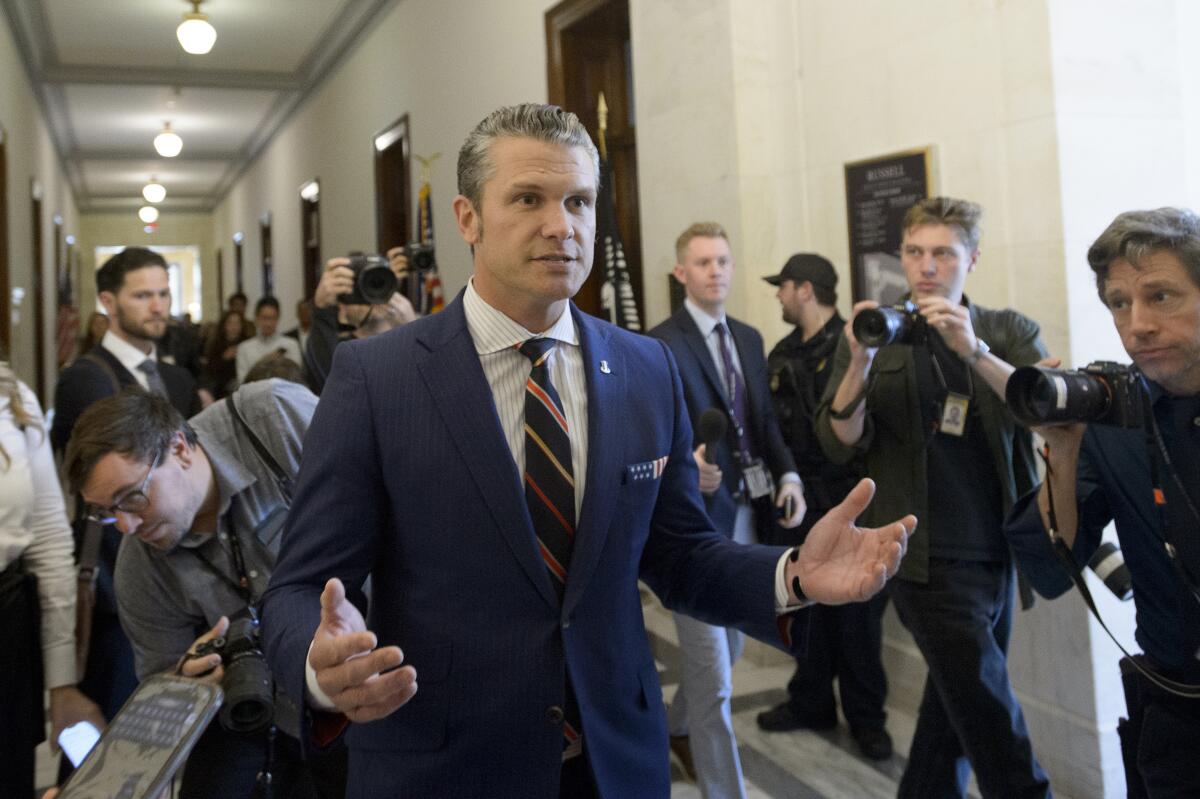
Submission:
POLYGON ((929 583, 892 582, 892 601, 929 677, 899 797, 1049 797, 1008 681, 1015 576, 1007 563, 930 558, 929 583))

